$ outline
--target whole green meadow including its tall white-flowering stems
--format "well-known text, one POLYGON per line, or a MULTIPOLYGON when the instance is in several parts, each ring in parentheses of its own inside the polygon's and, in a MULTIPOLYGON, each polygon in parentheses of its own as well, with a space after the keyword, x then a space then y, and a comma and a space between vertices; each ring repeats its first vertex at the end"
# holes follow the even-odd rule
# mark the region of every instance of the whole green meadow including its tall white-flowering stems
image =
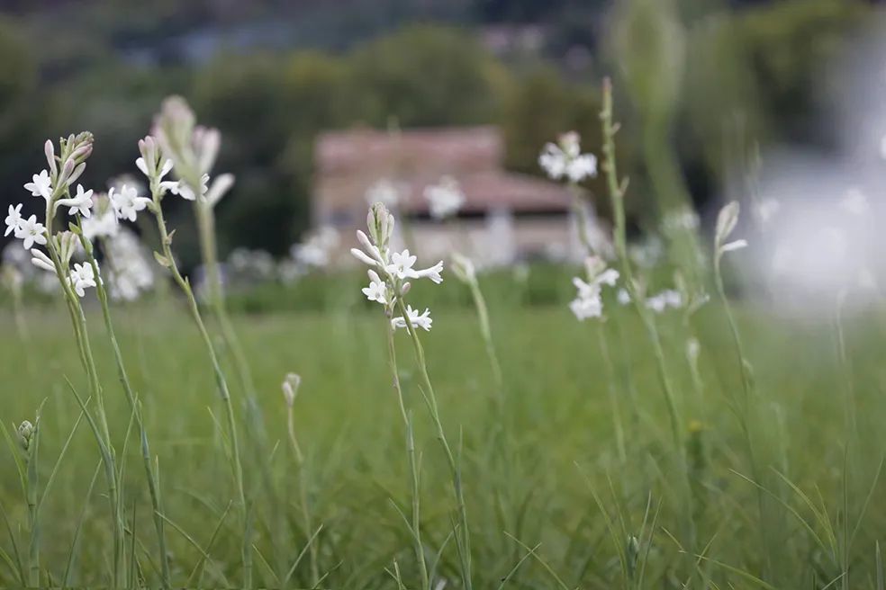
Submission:
MULTIPOLYGON (((139 142, 147 186, 87 191, 92 134, 47 141, 24 185, 45 215, 5 219, 22 242, 3 274, 0 584, 883 590, 872 261, 839 228, 794 244, 792 268, 841 271, 800 313, 811 293, 736 264, 770 231, 752 193, 755 228, 737 201, 712 236, 677 207, 662 262, 640 264, 608 81, 602 103, 611 240, 579 136, 538 158, 574 196, 583 264, 489 271, 458 245, 419 263, 396 199, 373 199, 340 253, 366 274, 309 240, 313 268, 246 290, 215 242, 221 136, 184 99, 139 142), (193 204, 199 282, 164 199, 193 204)), ((466 202, 452 179, 424 196, 440 223, 466 202)), ((872 219, 849 197, 831 219, 872 219)))

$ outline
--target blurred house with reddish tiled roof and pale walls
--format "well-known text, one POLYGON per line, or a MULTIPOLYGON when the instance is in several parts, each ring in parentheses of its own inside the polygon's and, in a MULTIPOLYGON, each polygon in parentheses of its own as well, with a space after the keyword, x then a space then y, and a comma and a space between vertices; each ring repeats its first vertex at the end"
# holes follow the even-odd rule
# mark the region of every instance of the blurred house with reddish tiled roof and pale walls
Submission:
POLYGON ((323 133, 315 150, 315 227, 339 230, 342 248, 357 246, 355 230, 365 229, 367 204, 382 182, 397 197, 396 246, 422 256, 457 248, 479 264, 510 264, 579 255, 568 189, 505 171, 503 156, 495 127, 323 133), (438 221, 424 192, 445 176, 456 179, 465 203, 454 219, 438 221))

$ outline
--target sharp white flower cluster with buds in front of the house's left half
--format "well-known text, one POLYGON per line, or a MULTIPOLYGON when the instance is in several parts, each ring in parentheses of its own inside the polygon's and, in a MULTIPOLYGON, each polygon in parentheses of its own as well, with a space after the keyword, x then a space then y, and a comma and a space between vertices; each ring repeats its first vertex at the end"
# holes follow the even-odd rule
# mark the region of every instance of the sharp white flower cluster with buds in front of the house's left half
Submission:
POLYGON ((405 317, 393 317, 393 313, 398 304, 405 304, 402 298, 409 292, 410 279, 429 279, 438 284, 443 282, 441 275, 443 261, 429 268, 416 270, 414 266, 418 257, 411 255, 409 250, 391 252, 389 245, 394 219, 390 211, 380 202, 369 209, 366 226, 369 230, 368 236, 363 231, 357 230, 357 240, 362 249, 351 248, 351 254, 370 267, 369 286, 363 289, 366 299, 383 305, 385 313, 391 317, 391 326, 395 328, 404 328, 409 322, 413 328, 430 330, 433 320, 428 308, 419 313, 418 309, 406 305, 405 317))

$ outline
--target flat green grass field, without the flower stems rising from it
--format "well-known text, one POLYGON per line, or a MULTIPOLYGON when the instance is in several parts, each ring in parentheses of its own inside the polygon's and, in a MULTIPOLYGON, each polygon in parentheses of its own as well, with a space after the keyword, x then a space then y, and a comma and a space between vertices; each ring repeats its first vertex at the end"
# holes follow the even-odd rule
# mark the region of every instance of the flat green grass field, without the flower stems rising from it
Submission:
MULTIPOLYGON (((678 451, 644 328, 628 308, 611 304, 605 323, 578 323, 563 305, 493 299, 490 308, 501 391, 471 308, 439 308, 433 330, 421 334, 461 465, 475 588, 883 587, 879 315, 845 320, 841 362, 827 318, 788 322, 761 306, 739 307, 755 383, 746 400, 722 308, 709 304, 689 326, 679 312, 657 317, 674 380, 678 451), (687 362, 690 335, 701 342, 697 379, 687 362)), ((172 584, 240 586, 242 526, 205 349, 174 303, 113 313, 158 461, 172 584)), ((33 421, 41 403, 40 494, 51 480, 41 504, 41 580, 107 585, 112 526, 85 420, 54 470, 79 415, 66 377, 84 398, 88 391, 68 318, 46 308, 25 319, 26 340, 8 312, 0 320, 0 420, 9 443, 0 455, 0 586, 22 585, 27 574, 15 428, 33 421)), ((130 575, 159 586, 138 431, 97 308, 87 320, 122 464, 130 575)), ((400 514, 410 514, 410 480, 384 322, 353 306, 235 317, 262 416, 241 442, 255 586, 397 588, 398 576, 402 586, 419 586, 400 514), (294 403, 301 465, 280 389, 289 371, 303 378, 294 403)), ((446 461, 408 338, 398 338, 420 463, 423 547, 436 587, 464 587, 446 461)), ((242 392, 233 389, 245 423, 242 392)))

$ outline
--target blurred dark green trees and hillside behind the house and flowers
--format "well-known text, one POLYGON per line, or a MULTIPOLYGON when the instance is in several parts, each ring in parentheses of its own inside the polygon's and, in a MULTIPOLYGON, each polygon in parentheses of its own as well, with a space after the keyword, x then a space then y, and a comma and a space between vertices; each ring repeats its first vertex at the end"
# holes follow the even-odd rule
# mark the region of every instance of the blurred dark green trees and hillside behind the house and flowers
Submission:
MULTIPOLYGON (((541 174, 538 150, 565 130, 599 152, 599 85, 612 76, 633 227, 654 227, 668 200, 692 195, 710 209, 757 148, 835 148, 841 79, 828 68, 874 34, 883 10, 862 0, 5 0, 0 205, 22 200, 44 139, 77 130, 97 139, 88 186, 134 174, 152 115, 182 94, 222 130, 216 170, 238 178, 218 210, 222 258, 238 246, 282 256, 311 226, 321 131, 493 124, 506 166, 541 174)), ((176 204, 174 225, 191 214, 176 204)), ((194 235, 176 244, 186 268, 199 261, 194 235)))

